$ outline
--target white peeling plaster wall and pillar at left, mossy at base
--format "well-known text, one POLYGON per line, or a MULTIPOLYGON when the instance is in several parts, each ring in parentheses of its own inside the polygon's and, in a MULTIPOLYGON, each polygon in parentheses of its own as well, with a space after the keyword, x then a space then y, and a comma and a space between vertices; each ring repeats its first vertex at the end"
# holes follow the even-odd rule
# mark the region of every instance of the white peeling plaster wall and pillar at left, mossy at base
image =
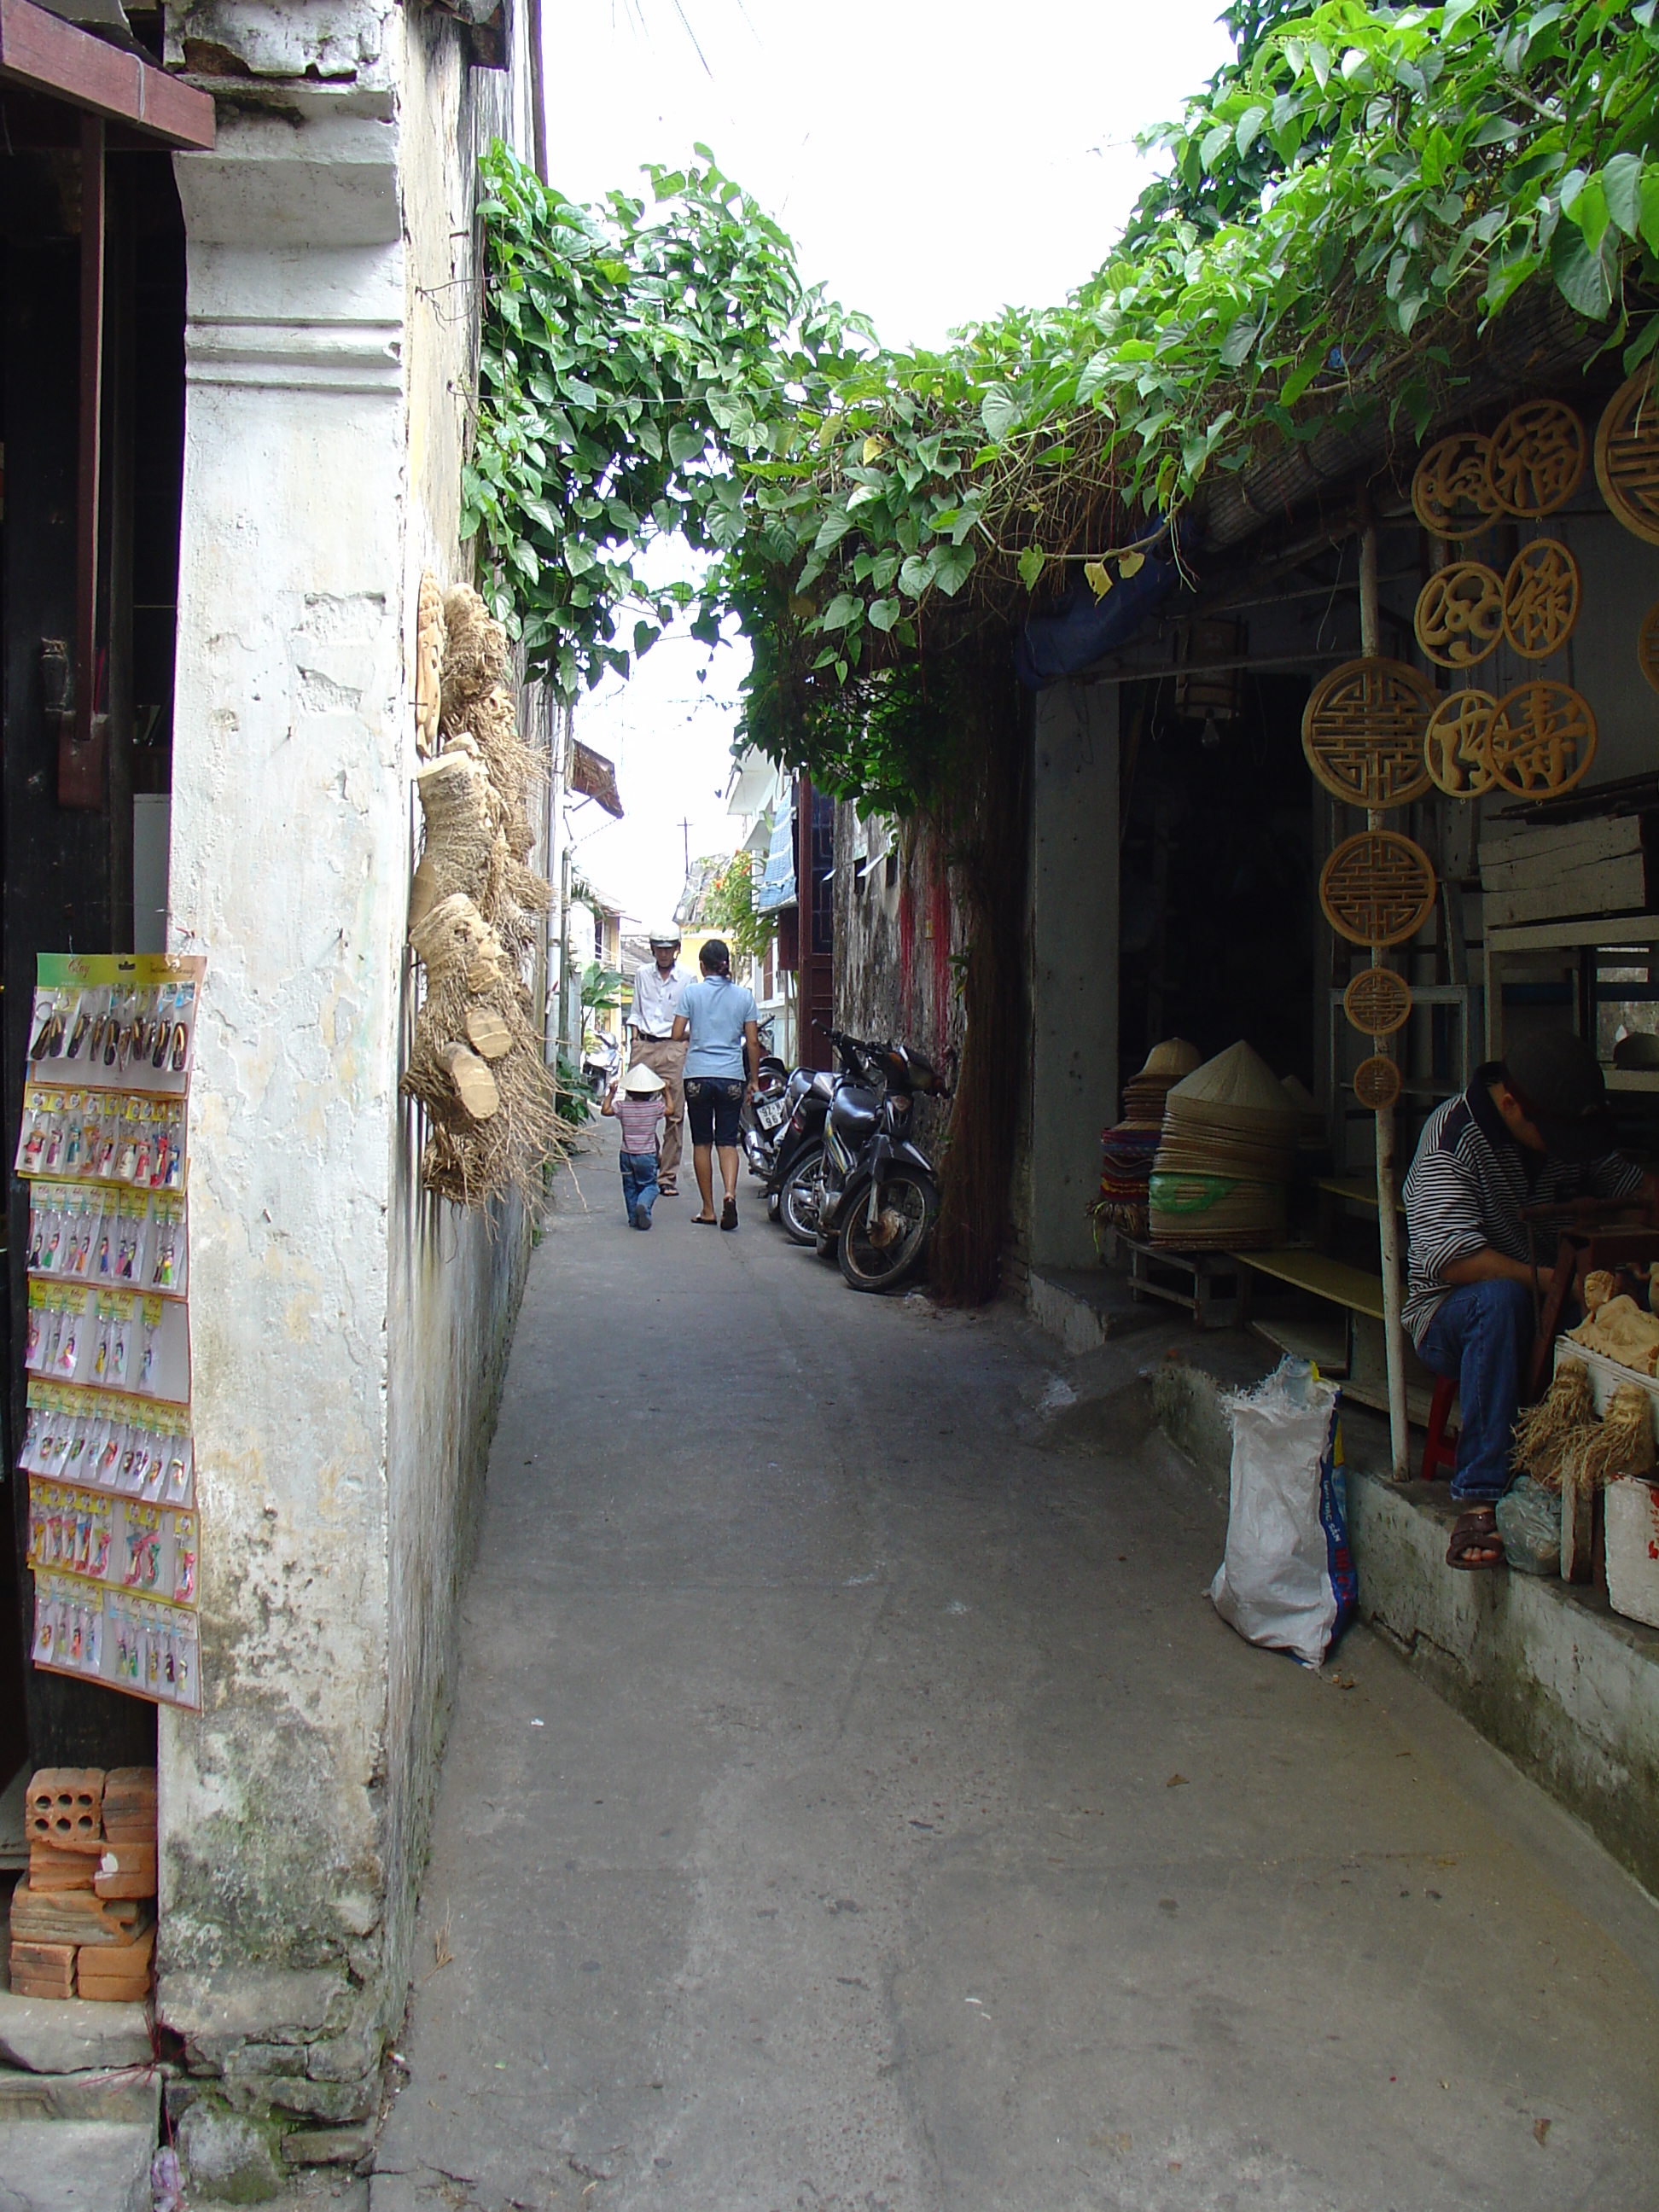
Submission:
POLYGON ((416 591, 462 575, 476 153, 522 100, 414 4, 204 0, 168 38, 219 144, 175 161, 206 1710, 161 1714, 159 2015, 232 2104, 347 2121, 403 2013, 526 1261, 518 1214, 418 1197, 396 1095, 416 591))

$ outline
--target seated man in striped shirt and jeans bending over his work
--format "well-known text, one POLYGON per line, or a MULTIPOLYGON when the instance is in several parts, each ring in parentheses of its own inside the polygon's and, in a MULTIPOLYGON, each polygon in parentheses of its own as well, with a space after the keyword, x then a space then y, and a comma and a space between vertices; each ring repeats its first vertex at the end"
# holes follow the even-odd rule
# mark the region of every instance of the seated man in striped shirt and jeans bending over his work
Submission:
POLYGON ((1451 1376, 1462 1400, 1451 1495, 1467 1511, 1447 1566, 1504 1562, 1493 1506, 1509 1489, 1533 1292, 1551 1279, 1526 1261, 1522 1208, 1655 1194, 1655 1179, 1613 1150, 1601 1068, 1566 1029, 1520 1040, 1429 1115, 1405 1179, 1411 1276, 1402 1318, 1422 1365, 1451 1376))

